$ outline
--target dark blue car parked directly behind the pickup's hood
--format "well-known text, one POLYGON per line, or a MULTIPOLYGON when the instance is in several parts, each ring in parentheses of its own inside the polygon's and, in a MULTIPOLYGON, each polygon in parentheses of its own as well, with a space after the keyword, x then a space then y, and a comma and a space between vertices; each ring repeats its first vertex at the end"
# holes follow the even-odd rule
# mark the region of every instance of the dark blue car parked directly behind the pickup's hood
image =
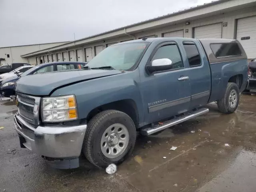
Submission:
POLYGON ((0 83, 0 96, 10 97, 15 95, 14 84, 21 77, 32 74, 42 74, 46 72, 82 69, 85 64, 85 62, 52 62, 34 66, 33 68, 30 68, 29 70, 21 74, 20 76, 16 75, 2 81, 2 83, 0 83))

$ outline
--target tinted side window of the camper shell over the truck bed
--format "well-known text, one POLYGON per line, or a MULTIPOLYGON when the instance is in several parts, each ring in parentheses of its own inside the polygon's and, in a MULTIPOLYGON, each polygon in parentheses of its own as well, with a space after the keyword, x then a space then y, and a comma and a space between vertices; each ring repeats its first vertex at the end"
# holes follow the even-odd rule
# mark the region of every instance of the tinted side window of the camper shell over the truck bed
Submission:
POLYGON ((242 55, 242 52, 237 43, 210 44, 210 47, 217 58, 242 55))

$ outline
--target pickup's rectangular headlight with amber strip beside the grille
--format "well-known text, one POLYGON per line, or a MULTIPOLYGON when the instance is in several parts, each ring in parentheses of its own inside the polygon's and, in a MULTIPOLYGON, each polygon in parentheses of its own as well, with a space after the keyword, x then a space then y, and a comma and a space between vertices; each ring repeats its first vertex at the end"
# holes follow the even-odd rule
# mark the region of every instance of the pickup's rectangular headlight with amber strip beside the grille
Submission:
POLYGON ((42 98, 42 121, 62 122, 78 118, 74 95, 42 98))

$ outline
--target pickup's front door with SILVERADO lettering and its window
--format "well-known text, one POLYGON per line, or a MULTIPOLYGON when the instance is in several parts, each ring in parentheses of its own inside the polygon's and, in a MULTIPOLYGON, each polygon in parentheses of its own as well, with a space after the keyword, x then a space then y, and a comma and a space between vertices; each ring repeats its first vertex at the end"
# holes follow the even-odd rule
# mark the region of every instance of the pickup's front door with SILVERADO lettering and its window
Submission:
MULTIPOLYGON (((160 44, 150 56, 147 65, 156 59, 170 59, 168 70, 155 71, 144 76, 144 122, 152 123, 186 112, 190 107, 191 88, 180 49, 176 42, 160 44)), ((164 65, 164 63, 163 63, 164 65)), ((159 66, 159 63, 158 63, 159 66)))

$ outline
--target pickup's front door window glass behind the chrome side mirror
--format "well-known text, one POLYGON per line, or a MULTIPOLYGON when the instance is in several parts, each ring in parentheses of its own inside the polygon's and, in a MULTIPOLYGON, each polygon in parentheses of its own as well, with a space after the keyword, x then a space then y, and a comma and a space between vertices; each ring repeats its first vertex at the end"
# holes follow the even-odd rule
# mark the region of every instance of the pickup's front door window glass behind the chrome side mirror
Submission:
POLYGON ((178 69, 178 68, 184 67, 181 56, 180 56, 180 51, 176 44, 164 45, 160 47, 156 51, 154 57, 152 58, 152 61, 155 59, 164 59, 164 58, 168 58, 172 60, 172 69, 178 69))

